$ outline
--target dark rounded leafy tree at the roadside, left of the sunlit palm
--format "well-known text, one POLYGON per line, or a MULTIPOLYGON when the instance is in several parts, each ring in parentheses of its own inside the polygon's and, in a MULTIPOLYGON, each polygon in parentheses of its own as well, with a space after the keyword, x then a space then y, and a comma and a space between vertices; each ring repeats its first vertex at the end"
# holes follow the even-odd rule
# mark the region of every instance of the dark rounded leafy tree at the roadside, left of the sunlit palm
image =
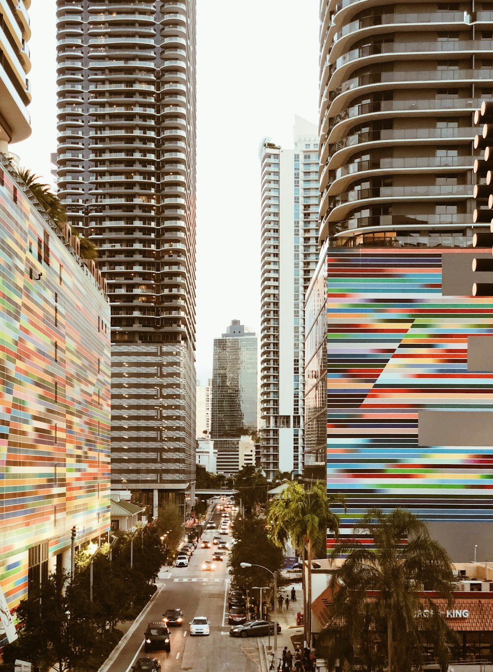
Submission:
POLYGON ((230 573, 242 588, 265 585, 271 577, 261 567, 242 568, 241 562, 261 564, 271 572, 279 571, 284 562, 283 552, 273 543, 265 520, 253 517, 236 517, 231 534, 236 540, 229 557, 230 573))

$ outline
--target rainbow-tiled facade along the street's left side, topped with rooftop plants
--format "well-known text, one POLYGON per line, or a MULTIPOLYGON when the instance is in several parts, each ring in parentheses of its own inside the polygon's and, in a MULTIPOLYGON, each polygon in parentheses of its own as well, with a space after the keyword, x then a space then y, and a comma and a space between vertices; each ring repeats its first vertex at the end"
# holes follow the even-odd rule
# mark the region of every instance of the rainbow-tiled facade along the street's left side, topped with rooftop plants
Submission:
POLYGON ((93 276, 2 168, 0 585, 14 607, 29 548, 48 542, 53 566, 72 526, 77 543, 109 530, 110 337, 93 276))

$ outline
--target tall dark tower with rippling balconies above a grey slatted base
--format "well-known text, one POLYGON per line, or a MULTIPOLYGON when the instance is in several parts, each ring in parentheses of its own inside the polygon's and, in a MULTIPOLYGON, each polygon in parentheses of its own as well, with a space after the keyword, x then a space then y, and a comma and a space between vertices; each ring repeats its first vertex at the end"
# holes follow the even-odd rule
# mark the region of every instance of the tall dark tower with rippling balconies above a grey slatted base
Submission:
POLYGON ((195 0, 57 1, 58 187, 111 301, 111 476, 195 474, 195 0))

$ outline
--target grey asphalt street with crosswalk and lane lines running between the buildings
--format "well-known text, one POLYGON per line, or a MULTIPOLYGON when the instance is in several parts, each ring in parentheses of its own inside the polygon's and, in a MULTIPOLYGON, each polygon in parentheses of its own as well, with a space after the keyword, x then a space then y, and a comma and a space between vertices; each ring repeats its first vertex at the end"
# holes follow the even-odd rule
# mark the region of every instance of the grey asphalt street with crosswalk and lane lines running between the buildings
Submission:
MULTIPOLYGON (((230 511, 228 511, 230 513, 230 511)), ((231 513, 230 513, 231 517, 231 513)), ((216 528, 220 513, 214 511, 212 519, 216 528)), ((203 537, 214 536, 214 531, 204 531, 203 537)), ((230 540, 230 536, 225 537, 230 540)), ((215 547, 214 547, 215 548, 215 547)), ((258 672, 259 648, 257 638, 232 638, 228 625, 228 590, 230 575, 228 563, 216 561, 215 571, 202 571, 204 560, 212 559, 213 548, 198 546, 188 567, 162 572, 158 581, 159 595, 152 602, 148 613, 138 624, 132 636, 108 668, 107 672, 129 672, 141 656, 156 657, 162 672, 227 672, 244 670, 258 672), (150 621, 160 621, 167 609, 181 608, 183 626, 170 628, 171 652, 144 652, 144 630, 150 621), (189 634, 189 622, 195 616, 206 616, 210 622, 209 636, 189 634)))

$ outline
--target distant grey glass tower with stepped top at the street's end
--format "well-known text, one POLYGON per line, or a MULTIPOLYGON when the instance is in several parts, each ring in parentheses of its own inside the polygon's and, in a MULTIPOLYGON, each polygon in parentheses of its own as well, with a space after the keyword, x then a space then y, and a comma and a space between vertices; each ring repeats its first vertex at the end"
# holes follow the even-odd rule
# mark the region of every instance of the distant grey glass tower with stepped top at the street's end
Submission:
POLYGON ((257 335, 239 320, 214 339, 211 437, 239 439, 257 431, 257 335))

